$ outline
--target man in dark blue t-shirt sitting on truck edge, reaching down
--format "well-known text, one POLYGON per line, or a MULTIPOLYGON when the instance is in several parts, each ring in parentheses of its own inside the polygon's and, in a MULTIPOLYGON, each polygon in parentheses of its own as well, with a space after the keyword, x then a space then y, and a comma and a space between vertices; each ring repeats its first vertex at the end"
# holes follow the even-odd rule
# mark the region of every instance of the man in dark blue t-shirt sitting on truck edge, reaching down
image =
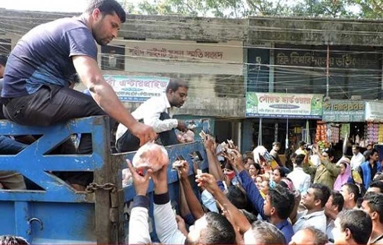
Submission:
MULTIPOLYGON (((24 35, 5 68, 1 93, 5 117, 22 125, 49 126, 108 114, 141 144, 155 139, 153 128, 137 122, 118 100, 97 63, 95 42, 107 45, 125 20, 125 11, 115 0, 90 0, 81 16, 47 22, 24 35), (69 88, 76 72, 91 96, 69 88)), ((90 134, 82 135, 79 154, 92 152, 91 140, 90 134)), ((92 174, 85 179, 68 181, 84 190, 92 174)))

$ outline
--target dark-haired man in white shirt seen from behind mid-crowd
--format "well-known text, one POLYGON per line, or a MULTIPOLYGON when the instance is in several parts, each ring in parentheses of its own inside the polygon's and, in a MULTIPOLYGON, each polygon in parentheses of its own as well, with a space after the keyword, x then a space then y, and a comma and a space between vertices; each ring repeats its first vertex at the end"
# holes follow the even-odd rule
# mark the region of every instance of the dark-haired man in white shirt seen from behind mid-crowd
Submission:
POLYGON ((302 163, 305 156, 303 154, 298 155, 295 158, 294 170, 288 174, 288 178, 293 181, 294 187, 303 195, 311 184, 310 175, 304 173, 302 163))

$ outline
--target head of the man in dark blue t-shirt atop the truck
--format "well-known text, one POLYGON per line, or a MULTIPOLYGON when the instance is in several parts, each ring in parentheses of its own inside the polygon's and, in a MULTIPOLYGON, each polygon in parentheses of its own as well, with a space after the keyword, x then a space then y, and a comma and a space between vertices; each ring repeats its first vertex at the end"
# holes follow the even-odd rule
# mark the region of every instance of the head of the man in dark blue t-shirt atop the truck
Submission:
POLYGON ((115 0, 89 0, 84 13, 89 15, 93 37, 100 45, 107 45, 116 38, 126 20, 123 7, 115 0))

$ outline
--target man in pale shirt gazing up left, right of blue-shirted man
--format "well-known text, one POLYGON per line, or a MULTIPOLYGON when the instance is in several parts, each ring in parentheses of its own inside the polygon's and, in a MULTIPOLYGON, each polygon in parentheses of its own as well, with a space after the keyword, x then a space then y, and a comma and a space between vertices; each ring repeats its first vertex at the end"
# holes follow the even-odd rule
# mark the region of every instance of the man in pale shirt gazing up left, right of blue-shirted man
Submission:
POLYGON ((313 226, 318 230, 326 233, 326 215, 324 214, 324 206, 330 197, 330 190, 322 184, 312 184, 303 195, 301 203, 307 210, 298 212, 293 221, 294 232, 298 232, 306 227, 313 226))

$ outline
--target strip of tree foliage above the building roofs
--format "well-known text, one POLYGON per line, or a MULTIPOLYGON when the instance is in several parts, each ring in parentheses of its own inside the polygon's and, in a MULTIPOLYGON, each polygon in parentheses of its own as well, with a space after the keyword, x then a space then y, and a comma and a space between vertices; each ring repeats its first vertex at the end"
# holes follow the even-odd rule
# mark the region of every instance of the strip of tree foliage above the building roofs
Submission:
POLYGON ((243 18, 255 15, 383 17, 381 0, 142 0, 130 13, 243 18))

